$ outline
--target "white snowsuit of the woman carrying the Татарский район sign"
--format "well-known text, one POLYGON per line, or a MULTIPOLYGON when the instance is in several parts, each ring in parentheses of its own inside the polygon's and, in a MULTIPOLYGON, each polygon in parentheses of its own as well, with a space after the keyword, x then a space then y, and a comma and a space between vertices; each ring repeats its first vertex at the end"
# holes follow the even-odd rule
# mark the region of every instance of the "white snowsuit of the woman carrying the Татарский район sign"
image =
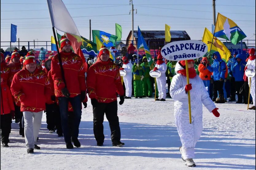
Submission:
POLYGON ((210 99, 202 79, 198 75, 194 78, 189 78, 189 83, 192 84, 192 89, 190 90, 192 124, 189 123, 188 94, 185 91, 187 77, 177 73, 178 70, 182 69, 180 64, 177 63, 175 66, 176 75, 171 82, 170 95, 175 100, 174 117, 182 143, 182 156, 184 159, 188 159, 195 157, 194 148, 202 133, 202 104, 204 104, 209 112, 216 108, 216 106, 210 99))

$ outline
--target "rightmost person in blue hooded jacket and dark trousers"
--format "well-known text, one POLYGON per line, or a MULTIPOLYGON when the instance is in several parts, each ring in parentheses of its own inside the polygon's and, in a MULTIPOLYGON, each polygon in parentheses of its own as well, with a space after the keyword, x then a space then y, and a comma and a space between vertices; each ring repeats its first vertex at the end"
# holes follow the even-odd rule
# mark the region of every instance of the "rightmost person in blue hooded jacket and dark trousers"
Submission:
POLYGON ((240 94, 240 89, 244 84, 243 75, 246 62, 243 59, 242 54, 238 54, 235 57, 235 64, 232 68, 232 74, 235 77, 235 90, 237 92, 238 100, 236 103, 243 103, 243 95, 240 94))

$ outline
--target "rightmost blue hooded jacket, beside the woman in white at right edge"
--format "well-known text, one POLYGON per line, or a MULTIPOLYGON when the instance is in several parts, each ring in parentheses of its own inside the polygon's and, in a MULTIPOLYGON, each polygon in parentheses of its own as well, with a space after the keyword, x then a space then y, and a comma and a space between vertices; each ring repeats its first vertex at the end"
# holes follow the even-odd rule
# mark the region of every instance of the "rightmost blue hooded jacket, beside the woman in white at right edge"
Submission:
POLYGON ((241 54, 238 54, 235 57, 235 59, 236 59, 235 65, 232 68, 232 73, 233 73, 233 76, 235 77, 235 81, 244 81, 243 75, 244 75, 244 68, 245 68, 246 62, 242 60, 243 56, 241 54), (237 61, 238 58, 241 59, 240 62, 237 61))

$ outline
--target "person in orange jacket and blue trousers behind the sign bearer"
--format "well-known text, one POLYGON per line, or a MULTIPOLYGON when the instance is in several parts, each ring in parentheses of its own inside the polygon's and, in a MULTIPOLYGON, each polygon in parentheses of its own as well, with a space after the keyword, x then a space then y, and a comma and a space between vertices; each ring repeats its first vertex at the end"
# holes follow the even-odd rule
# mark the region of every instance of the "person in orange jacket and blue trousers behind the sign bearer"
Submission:
MULTIPOLYGON (((203 57, 201 63, 198 66, 199 77, 203 80, 204 86, 210 95, 210 83, 211 83, 211 72, 207 69, 208 58, 203 57)), ((209 65, 209 64, 208 64, 209 65)))

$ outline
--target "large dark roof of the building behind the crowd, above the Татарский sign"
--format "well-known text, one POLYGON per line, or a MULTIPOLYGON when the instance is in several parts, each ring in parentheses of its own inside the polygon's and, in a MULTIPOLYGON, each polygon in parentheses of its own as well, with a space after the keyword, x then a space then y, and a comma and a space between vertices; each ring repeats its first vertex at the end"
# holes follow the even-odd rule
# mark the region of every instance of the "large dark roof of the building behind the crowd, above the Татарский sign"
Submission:
MULTIPOLYGON (((164 39, 165 38, 165 31, 141 31, 142 36, 145 40, 148 39, 164 39)), ((188 33, 186 31, 170 31, 172 39, 182 39, 182 40, 190 40, 188 33)), ((129 36, 131 31, 129 33, 129 36)), ((128 37, 129 37, 128 36, 128 37)), ((138 31, 134 31, 134 37, 138 38, 138 31)))

